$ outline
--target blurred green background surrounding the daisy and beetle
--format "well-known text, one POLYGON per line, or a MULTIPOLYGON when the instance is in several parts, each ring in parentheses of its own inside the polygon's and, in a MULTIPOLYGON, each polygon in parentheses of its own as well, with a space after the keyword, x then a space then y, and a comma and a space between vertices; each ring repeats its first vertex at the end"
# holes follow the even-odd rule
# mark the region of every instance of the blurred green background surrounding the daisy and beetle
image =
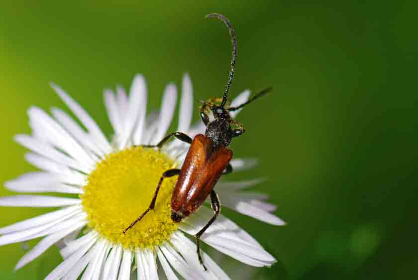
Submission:
MULTIPOLYGON (((230 41, 204 18, 221 12, 238 38, 231 95, 274 87, 240 114, 247 133, 231 145, 260 165, 231 178, 268 177, 254 189, 288 225, 224 208, 279 260, 253 278, 416 279, 417 2, 294 2, 2 1, 0 181, 33 170, 12 137, 30 132, 29 106, 64 108, 50 81, 106 135, 103 89, 128 88, 135 73, 147 79, 148 109, 185 72, 195 108, 221 95, 230 41)), ((43 211, 0 208, 0 226, 43 211)), ((60 262, 54 248, 12 273, 23 254, 20 244, 0 248, 1 280, 40 280, 60 262)), ((232 276, 242 271, 226 263, 232 276)))

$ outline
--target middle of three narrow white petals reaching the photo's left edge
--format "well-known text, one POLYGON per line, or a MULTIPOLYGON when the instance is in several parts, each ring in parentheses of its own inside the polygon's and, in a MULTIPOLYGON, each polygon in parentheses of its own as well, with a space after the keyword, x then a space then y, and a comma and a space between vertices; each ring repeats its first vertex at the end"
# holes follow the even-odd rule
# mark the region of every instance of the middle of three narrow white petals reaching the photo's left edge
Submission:
POLYGON ((30 218, 3 228, 0 228, 0 234, 8 234, 17 231, 23 231, 30 228, 35 228, 38 226, 42 226, 53 221, 56 221, 60 217, 65 217, 68 214, 77 214, 80 213, 80 206, 70 206, 64 209, 60 209, 54 212, 49 212, 34 218, 30 218))

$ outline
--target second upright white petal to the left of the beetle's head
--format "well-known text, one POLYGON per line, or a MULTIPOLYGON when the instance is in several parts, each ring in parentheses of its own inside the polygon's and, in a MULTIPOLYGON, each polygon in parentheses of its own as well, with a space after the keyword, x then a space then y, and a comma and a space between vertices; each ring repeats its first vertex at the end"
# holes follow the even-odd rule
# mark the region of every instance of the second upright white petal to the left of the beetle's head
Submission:
POLYGON ((161 104, 158 131, 151 143, 156 144, 165 137, 171 121, 173 120, 176 102, 177 88, 174 84, 169 84, 165 89, 163 102, 161 104))

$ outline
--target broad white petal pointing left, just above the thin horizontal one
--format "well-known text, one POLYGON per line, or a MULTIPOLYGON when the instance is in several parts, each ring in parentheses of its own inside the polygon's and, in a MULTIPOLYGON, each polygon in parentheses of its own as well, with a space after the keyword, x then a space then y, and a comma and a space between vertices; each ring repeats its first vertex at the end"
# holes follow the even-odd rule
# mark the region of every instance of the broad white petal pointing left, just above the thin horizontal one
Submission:
POLYGON ((79 187, 61 184, 57 178, 46 172, 26 173, 5 182, 4 186, 8 190, 17 192, 83 193, 79 187))

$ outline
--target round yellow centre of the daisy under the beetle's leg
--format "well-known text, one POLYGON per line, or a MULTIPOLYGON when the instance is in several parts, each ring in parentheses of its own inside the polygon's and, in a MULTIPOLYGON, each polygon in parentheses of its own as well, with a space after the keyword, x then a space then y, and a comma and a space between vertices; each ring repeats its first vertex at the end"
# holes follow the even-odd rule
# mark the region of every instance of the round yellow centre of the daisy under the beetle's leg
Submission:
POLYGON ((106 156, 90 174, 81 195, 89 226, 124 248, 154 247, 178 228, 171 218, 171 196, 176 177, 165 178, 155 211, 149 211, 132 229, 123 230, 148 209, 158 181, 173 161, 165 154, 142 147, 106 156))

